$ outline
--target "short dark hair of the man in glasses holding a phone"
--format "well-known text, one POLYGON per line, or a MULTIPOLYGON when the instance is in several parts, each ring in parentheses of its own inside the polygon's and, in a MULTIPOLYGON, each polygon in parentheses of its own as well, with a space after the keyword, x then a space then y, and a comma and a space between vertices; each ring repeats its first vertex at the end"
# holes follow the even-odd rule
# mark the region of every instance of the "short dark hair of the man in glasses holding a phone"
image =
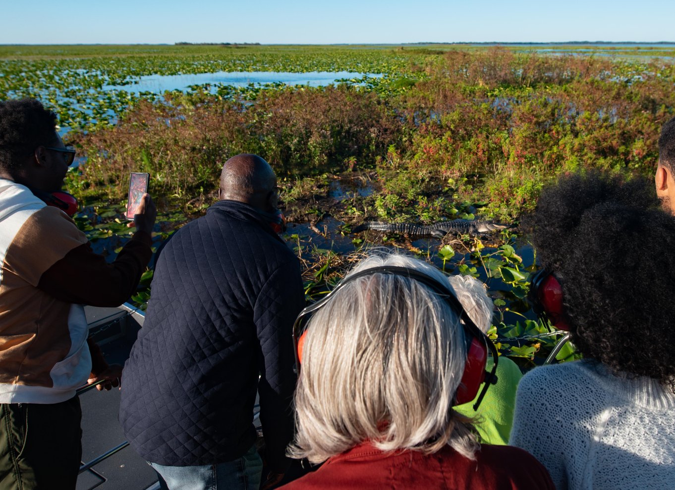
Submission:
POLYGON ((0 102, 0 168, 18 169, 40 145, 55 144, 57 117, 38 100, 0 102))

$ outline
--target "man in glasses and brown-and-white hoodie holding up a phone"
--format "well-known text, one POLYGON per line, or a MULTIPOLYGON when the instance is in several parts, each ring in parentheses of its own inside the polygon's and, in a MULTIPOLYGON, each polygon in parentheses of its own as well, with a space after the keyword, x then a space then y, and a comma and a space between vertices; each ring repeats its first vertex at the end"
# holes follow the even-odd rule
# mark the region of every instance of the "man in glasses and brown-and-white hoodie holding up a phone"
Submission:
POLYGON ((46 206, 75 157, 37 100, 0 102, 0 487, 74 489, 80 466, 76 388, 117 386, 89 342, 83 305, 117 306, 151 257, 155 206, 107 264, 58 207, 46 206), (39 198, 38 198, 39 197, 39 198))

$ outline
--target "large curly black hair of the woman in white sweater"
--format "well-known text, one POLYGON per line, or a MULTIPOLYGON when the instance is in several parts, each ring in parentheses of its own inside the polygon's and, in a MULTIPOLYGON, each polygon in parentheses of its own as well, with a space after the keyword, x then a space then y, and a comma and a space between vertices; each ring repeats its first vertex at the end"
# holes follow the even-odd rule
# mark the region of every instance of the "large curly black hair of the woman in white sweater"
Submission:
POLYGON ((587 359, 675 387, 675 217, 653 182, 566 175, 524 219, 562 282, 564 317, 587 359))

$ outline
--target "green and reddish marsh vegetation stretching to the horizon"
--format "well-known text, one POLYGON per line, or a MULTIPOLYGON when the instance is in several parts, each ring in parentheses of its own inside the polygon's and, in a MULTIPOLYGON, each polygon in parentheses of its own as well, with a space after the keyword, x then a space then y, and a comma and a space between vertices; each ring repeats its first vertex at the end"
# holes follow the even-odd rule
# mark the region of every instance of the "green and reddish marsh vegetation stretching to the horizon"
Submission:
POLYGON ((286 239, 304 264, 308 295, 325 292, 369 247, 402 247, 485 280, 497 309, 493 337, 526 367, 556 336, 504 340, 548 332, 524 301, 536 266, 518 217, 560 173, 651 174, 660 127, 675 111, 675 65, 651 58, 672 55, 666 47, 640 57, 624 56, 633 47, 616 57, 556 49, 563 54, 444 44, 0 47, 0 98, 35 96, 59 111, 67 139, 86 156, 68 175, 86 204, 78 224, 111 255, 128 234, 118 209, 128 173, 151 173, 165 210, 159 242, 215 200, 229 156, 254 152, 286 190, 282 204, 296 224, 286 239), (342 70, 383 76, 325 88, 106 88, 151 74, 342 70), (365 220, 475 216, 514 228, 442 241, 350 233, 365 220))

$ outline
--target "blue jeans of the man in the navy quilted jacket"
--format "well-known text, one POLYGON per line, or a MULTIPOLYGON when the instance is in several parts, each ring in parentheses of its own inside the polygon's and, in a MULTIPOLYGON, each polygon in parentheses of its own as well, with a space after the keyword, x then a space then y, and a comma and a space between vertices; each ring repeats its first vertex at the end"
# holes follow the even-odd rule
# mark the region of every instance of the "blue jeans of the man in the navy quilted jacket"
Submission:
POLYGON ((164 490, 258 490, 263 473, 255 444, 236 460, 206 466, 162 466, 150 463, 164 490))

